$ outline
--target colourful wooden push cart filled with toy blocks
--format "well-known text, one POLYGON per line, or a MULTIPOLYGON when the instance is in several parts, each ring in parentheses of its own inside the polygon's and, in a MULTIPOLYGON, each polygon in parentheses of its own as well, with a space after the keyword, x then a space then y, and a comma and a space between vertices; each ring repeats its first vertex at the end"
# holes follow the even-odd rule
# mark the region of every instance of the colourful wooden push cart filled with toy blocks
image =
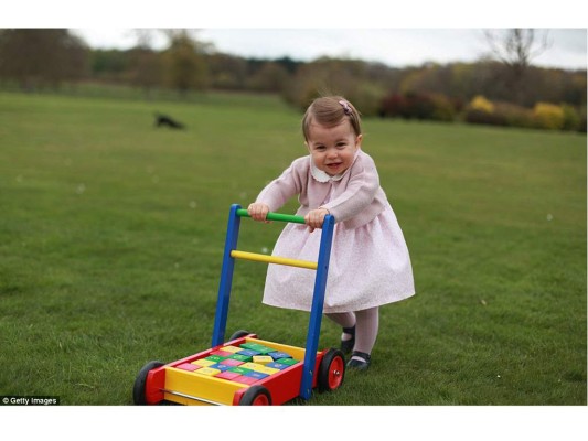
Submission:
MULTIPOLYGON (((146 364, 135 380, 136 405, 281 405, 297 397, 309 399, 313 388, 334 390, 343 384, 342 352, 318 352, 334 217, 324 218, 317 262, 237 250, 242 217, 248 217, 247 211, 232 205, 211 348, 168 364, 146 364), (247 331, 225 342, 235 259, 317 271, 304 348, 259 340, 247 331)), ((304 224, 301 216, 280 213, 269 213, 267 219, 304 224)))

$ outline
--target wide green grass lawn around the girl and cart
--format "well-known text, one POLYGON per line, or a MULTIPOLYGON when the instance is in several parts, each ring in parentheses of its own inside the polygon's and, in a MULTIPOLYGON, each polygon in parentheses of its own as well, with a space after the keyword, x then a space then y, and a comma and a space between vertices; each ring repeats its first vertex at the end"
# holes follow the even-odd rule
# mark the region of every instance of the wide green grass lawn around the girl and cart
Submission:
MULTIPOLYGON (((129 405, 146 362, 209 347, 228 207, 304 154, 299 120, 267 96, 0 93, 0 395, 129 405)), ((586 405, 586 137, 366 120, 364 149, 417 295, 381 309, 367 374, 308 404, 586 405)), ((239 248, 281 227, 244 220, 239 248)), ((303 345, 265 271, 238 263, 227 333, 303 345)))

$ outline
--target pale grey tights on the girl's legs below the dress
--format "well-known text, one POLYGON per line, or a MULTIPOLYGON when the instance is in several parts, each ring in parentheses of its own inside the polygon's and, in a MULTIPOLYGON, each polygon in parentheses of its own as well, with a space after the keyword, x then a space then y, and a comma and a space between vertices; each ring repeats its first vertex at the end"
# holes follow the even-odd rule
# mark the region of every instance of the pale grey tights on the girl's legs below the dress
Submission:
MULTIPOLYGON (((355 325, 355 346, 353 351, 371 354, 376 343, 377 330, 379 325, 379 309, 371 308, 368 310, 355 312, 334 312, 324 314, 341 327, 353 327, 355 325)), ((350 337, 343 334, 342 340, 350 337)))

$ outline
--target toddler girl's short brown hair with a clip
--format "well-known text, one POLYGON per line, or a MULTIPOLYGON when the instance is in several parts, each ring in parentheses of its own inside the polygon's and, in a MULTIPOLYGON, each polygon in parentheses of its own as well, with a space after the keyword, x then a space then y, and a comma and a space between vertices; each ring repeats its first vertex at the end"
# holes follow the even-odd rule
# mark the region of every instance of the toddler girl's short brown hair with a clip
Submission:
POLYGON ((334 127, 348 119, 351 128, 359 137, 362 135, 360 112, 341 96, 327 96, 314 99, 302 118, 302 133, 308 141, 310 125, 316 122, 324 127, 334 127))

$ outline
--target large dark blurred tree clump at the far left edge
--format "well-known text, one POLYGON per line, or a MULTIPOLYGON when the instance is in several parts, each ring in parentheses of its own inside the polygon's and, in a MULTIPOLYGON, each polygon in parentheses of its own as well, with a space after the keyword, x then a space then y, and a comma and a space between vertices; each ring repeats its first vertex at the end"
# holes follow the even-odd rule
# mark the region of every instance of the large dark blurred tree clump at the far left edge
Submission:
POLYGON ((66 29, 0 30, 0 77, 23 89, 79 79, 87 67, 86 44, 66 29))

